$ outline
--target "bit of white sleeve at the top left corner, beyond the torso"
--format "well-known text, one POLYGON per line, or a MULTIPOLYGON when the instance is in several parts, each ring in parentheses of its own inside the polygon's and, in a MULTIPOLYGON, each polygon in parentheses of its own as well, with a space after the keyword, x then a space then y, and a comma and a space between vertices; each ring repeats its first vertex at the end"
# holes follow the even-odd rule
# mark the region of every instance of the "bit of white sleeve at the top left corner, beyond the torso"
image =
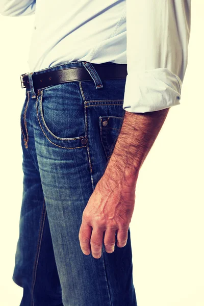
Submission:
POLYGON ((33 15, 35 6, 36 0, 1 0, 0 14, 10 17, 33 15))

